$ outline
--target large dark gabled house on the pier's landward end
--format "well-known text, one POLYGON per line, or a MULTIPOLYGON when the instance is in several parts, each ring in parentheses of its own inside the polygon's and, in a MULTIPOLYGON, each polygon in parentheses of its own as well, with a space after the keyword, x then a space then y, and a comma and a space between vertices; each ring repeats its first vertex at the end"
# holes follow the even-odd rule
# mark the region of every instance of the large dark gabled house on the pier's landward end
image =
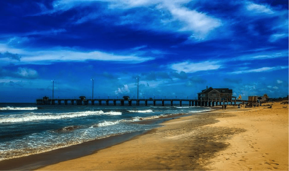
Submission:
MULTIPOLYGON (((232 100, 232 90, 229 88, 207 88, 198 93, 198 100, 211 101, 231 101, 232 100)), ((235 98, 235 97, 234 97, 235 98)))

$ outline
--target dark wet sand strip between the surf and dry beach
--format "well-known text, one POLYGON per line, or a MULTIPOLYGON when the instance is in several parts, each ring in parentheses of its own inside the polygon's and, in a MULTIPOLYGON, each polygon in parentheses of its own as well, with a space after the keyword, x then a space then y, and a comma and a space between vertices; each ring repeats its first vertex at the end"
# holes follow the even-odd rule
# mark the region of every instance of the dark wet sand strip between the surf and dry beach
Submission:
MULTIPOLYGON (((168 116, 161 116, 155 119, 140 120, 132 122, 132 124, 157 124, 167 120, 175 119, 178 117, 184 117, 191 114, 172 114, 168 116)), ((159 125, 158 127, 160 127, 159 125)), ((154 130, 153 128, 152 130, 154 130)), ((46 151, 39 154, 32 154, 29 156, 17 157, 12 159, 5 159, 0 161, 0 170, 35 170, 47 165, 56 164, 59 162, 84 157, 90 154, 94 154, 98 150, 114 146, 125 141, 129 141, 137 136, 141 136, 150 132, 151 130, 142 130, 132 133, 124 133, 118 135, 112 135, 105 138, 95 139, 80 144, 55 149, 52 151, 46 151), (73 156, 72 156, 73 155, 73 156)))

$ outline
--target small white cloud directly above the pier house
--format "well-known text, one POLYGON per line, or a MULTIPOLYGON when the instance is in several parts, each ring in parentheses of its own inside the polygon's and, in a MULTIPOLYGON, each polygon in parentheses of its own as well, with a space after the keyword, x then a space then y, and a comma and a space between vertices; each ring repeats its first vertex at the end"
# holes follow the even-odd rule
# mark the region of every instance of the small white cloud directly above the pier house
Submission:
POLYGON ((207 71, 207 70, 217 70, 221 68, 221 65, 217 62, 181 62, 176 64, 171 64, 168 66, 169 68, 176 70, 177 72, 186 72, 186 73, 193 73, 198 71, 207 71))

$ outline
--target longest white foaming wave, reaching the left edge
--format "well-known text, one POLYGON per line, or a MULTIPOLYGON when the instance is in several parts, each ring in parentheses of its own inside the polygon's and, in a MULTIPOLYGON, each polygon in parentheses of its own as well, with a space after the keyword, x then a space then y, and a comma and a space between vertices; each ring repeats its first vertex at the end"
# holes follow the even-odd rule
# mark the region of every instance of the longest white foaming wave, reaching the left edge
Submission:
MULTIPOLYGON (((39 113, 41 114, 41 113, 39 113)), ((55 119, 65 119, 65 118, 73 118, 73 117, 82 117, 82 116, 89 116, 89 115, 100 115, 100 114, 108 114, 108 115, 121 115, 121 112, 103 112, 100 111, 85 111, 85 112, 73 112, 73 113, 63 113, 58 115, 34 115, 30 114, 23 117, 8 117, 0 119, 0 123, 5 122, 29 122, 29 121, 36 121, 36 120, 55 120, 55 119)))

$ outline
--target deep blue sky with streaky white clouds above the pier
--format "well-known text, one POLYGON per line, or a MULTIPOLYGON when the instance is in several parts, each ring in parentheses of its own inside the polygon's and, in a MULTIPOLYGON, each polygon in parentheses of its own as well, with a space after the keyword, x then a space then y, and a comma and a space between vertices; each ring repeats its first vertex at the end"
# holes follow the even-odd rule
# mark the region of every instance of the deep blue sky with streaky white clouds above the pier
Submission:
POLYGON ((0 1, 0 102, 289 91, 288 0, 0 1), (138 78, 139 77, 139 86, 138 78))

